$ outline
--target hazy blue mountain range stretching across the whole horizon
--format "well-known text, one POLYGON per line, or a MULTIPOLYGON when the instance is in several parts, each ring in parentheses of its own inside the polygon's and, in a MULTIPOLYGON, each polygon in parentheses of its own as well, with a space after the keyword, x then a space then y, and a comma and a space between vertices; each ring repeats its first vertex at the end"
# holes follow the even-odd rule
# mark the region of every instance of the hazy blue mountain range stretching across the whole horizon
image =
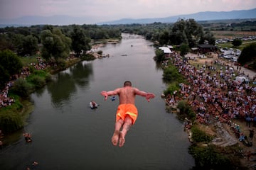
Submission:
POLYGON ((228 12, 199 12, 187 15, 169 16, 166 18, 124 18, 117 21, 107 21, 95 23, 94 16, 75 17, 75 16, 23 16, 21 18, 5 19, 0 16, 0 27, 5 26, 32 26, 32 25, 59 25, 66 26, 70 24, 131 24, 131 23, 175 23, 178 19, 193 18, 196 21, 211 21, 211 20, 228 20, 228 19, 245 19, 256 18, 256 8, 250 10, 228 11, 228 12))

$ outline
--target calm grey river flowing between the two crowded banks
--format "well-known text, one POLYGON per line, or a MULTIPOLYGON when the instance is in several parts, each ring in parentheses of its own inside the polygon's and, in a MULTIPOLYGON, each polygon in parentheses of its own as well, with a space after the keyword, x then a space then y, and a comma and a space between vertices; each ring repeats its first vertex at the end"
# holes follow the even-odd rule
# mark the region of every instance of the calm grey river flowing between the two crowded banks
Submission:
POLYGON ((31 95, 35 108, 24 132, 33 142, 18 141, 0 150, 0 169, 191 169, 188 135, 175 114, 166 113, 161 93, 166 89, 162 70, 153 60, 152 43, 139 35, 122 34, 117 44, 97 50, 110 57, 80 62, 54 75, 54 81, 31 95), (156 94, 147 102, 137 96, 137 122, 124 147, 114 147, 118 99, 104 101, 101 91, 124 81, 156 94), (89 107, 95 100, 100 106, 89 107), (33 161, 38 162, 33 166, 33 161))

